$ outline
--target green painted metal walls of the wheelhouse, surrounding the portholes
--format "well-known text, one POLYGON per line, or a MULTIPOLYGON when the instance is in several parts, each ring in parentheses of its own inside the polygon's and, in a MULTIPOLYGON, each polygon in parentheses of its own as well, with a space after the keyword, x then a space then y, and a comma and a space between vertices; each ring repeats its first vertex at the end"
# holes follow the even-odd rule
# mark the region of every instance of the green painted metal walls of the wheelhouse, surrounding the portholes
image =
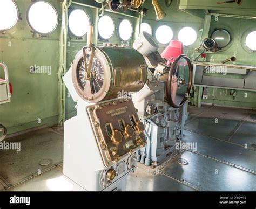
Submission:
MULTIPOLYGON (((158 26, 163 24, 170 26, 173 39, 178 39, 180 29, 189 26, 196 30, 197 40, 190 46, 184 46, 184 53, 193 60, 199 55, 198 52, 194 52, 194 48, 199 46, 201 40, 210 37, 216 29, 226 29, 231 34, 231 43, 218 53, 207 52, 206 61, 220 62, 235 56, 237 57, 235 64, 256 66, 256 52, 247 50, 244 44, 246 34, 256 30, 256 19, 248 17, 253 17, 254 13, 256 17, 255 1, 248 1, 249 7, 244 1, 239 16, 239 7, 233 4, 212 8, 216 4, 212 3, 213 1, 202 3, 200 0, 172 0, 171 6, 167 8, 165 1, 159 0, 166 17, 156 21, 156 13, 149 0, 143 5, 149 9, 143 17, 139 12, 134 11, 118 13, 103 11, 102 5, 93 0, 77 0, 72 3, 46 0, 54 6, 59 18, 56 30, 47 36, 39 36, 37 32, 32 31, 27 22, 26 13, 32 2, 29 0, 15 2, 19 10, 18 22, 5 34, 0 34, 0 61, 8 66, 13 87, 11 102, 0 105, 0 124, 8 128, 8 134, 41 126, 61 125, 65 119, 76 115, 76 104, 61 79, 70 68, 76 53, 86 45, 87 36, 77 38, 68 27, 68 15, 75 9, 83 9, 89 15, 90 22, 94 25, 92 42, 97 46, 107 42, 118 45, 125 43, 126 46, 132 47, 142 22, 151 25, 153 36, 158 26), (227 14, 230 17, 224 17, 227 14), (98 36, 97 23, 102 15, 109 15, 115 23, 116 30, 109 40, 102 40, 98 36), (120 40, 118 35, 118 27, 122 19, 130 20, 133 25, 133 35, 129 41, 120 40), (51 73, 31 73, 30 68, 35 65, 50 66, 51 73)), ((83 21, 81 20, 79 24, 82 25, 83 21)), ((160 51, 166 47, 163 44, 159 46, 160 51)), ((2 71, 0 78, 3 78, 2 71)), ((194 105, 199 105, 198 102, 201 102, 201 91, 201 87, 192 88, 190 100, 194 105)), ((202 101, 256 108, 256 93, 248 92, 246 98, 244 93, 242 90, 233 94, 230 89, 209 88, 208 99, 202 101)))

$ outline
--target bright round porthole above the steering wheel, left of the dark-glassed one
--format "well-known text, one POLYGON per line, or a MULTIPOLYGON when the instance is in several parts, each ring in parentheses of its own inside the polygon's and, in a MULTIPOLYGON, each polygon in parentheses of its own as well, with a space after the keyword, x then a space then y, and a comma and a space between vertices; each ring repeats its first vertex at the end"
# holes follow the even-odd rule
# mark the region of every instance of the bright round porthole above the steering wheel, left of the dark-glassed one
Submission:
POLYGON ((185 46, 189 46, 191 44, 194 44, 197 40, 197 32, 192 29, 192 27, 183 27, 183 29, 179 31, 178 39, 185 46))

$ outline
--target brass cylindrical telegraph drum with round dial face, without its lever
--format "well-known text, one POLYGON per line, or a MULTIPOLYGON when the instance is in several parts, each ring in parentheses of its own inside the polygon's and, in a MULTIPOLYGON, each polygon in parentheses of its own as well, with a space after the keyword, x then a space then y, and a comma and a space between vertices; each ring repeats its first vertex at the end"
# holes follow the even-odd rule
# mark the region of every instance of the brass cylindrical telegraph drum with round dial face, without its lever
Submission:
MULTIPOLYGON (((86 50, 88 60, 90 50, 86 50)), ((86 70, 83 50, 80 50, 72 64, 73 85, 85 101, 97 103, 114 99, 127 92, 138 92, 147 79, 147 66, 142 54, 131 48, 95 47, 92 64, 92 98, 86 94, 86 70), (94 83, 94 84, 93 84, 94 83)))

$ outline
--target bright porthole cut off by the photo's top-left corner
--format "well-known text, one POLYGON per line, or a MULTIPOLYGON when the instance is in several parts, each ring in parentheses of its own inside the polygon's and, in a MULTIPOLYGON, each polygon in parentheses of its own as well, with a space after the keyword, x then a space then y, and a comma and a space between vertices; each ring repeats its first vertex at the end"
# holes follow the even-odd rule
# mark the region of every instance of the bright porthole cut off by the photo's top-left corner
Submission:
POLYGON ((0 31, 10 29, 17 23, 18 9, 12 0, 0 1, 0 31))

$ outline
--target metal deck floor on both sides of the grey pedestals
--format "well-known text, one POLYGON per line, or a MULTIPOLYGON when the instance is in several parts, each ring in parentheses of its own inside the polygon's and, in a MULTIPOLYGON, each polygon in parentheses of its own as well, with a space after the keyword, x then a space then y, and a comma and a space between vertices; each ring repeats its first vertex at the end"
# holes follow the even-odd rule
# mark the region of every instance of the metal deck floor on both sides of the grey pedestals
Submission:
MULTIPOLYGON (((256 112, 207 105, 188 110, 183 141, 197 143, 197 150, 179 150, 156 169, 138 164, 126 191, 256 191, 256 112), (178 164, 179 158, 188 164, 178 164)), ((62 174, 62 132, 46 128, 11 138, 22 142, 22 151, 0 151, 0 191, 72 191, 62 174), (43 159, 51 164, 39 165, 43 159)))

